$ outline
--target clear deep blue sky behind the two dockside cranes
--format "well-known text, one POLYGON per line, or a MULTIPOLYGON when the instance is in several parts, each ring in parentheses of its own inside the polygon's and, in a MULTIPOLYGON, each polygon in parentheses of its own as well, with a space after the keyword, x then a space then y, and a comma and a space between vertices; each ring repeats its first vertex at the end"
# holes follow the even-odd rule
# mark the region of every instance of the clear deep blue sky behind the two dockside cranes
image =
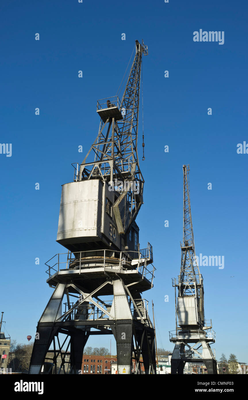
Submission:
MULTIPOLYGON (((157 332, 172 350, 171 278, 180 270, 182 166, 190 164, 196 254, 224 256, 224 269, 200 268, 205 316, 216 331, 212 347, 217 358, 234 353, 248 362, 241 285, 247 279, 248 154, 236 151, 248 143, 247 11, 247 2, 230 0, 2 1, 0 142, 12 143, 12 156, 0 154, 0 311, 12 338, 34 338, 52 294, 44 262, 63 252, 56 243, 61 185, 73 180, 71 163, 82 162, 97 136, 97 99, 116 94, 135 40, 143 38, 149 51, 143 58, 145 191, 137 223, 141 248, 153 245, 157 268, 154 288, 143 295, 150 312, 153 299, 157 332), (194 42, 200 29, 224 31, 224 44, 194 42)), ((140 124, 140 160, 141 135, 140 124)), ((88 345, 109 348, 110 336, 88 345)))

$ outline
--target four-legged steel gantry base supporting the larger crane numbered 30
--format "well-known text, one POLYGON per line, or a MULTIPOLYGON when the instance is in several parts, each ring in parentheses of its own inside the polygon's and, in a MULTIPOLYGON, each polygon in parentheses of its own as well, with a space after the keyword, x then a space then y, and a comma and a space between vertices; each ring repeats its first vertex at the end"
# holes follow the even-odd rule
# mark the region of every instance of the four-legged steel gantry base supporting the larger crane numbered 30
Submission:
MULTIPOLYGON (((142 256, 143 257, 143 256, 142 256)), ((36 373, 66 373, 65 357, 69 355, 67 363, 70 365, 68 373, 78 374, 81 370, 83 349, 90 335, 97 334, 113 334, 117 342, 117 358, 118 370, 122 373, 123 369, 126 374, 131 374, 131 363, 135 359, 137 368, 135 373, 141 373, 140 358, 142 356, 147 374, 155 374, 155 346, 154 346, 154 329, 148 315, 147 306, 141 295, 133 288, 139 286, 141 281, 143 285, 151 287, 151 282, 145 278, 145 274, 131 271, 131 284, 125 284, 127 279, 127 271, 118 268, 118 265, 108 265, 107 258, 105 267, 103 264, 97 263, 97 274, 104 276, 107 274, 107 280, 98 287, 95 287, 91 293, 83 289, 81 286, 83 276, 86 277, 91 270, 83 269, 79 277, 79 270, 59 269, 59 272, 51 275, 48 279, 50 286, 56 282, 54 293, 40 318, 38 323, 38 340, 35 341, 34 351, 30 363, 30 374, 36 373), (125 273, 124 273, 125 271, 125 273), (73 281, 79 283, 65 284, 65 279, 71 281, 73 273, 73 281), (108 286, 108 288, 106 288, 108 286), (113 294, 113 300, 101 300, 99 296, 103 294, 113 294), (71 303, 71 296, 79 298, 75 304, 71 303), (63 302, 64 296, 67 302, 63 302), (65 311, 62 312, 62 305, 65 305, 65 311), (91 330, 91 329, 95 330, 91 330), (63 344, 60 345, 58 335, 65 334, 63 344), (57 341, 56 341, 57 338, 57 341), (69 338, 69 341, 67 339, 69 338), (65 350, 63 345, 66 344, 65 350), (52 346, 52 348, 51 348, 52 346), (70 346, 70 351, 68 348, 70 346), (53 356, 49 356, 49 354, 53 356), (61 365, 57 368, 58 357, 61 358, 61 365), (50 362, 44 363, 45 360, 50 362), (129 361, 128 361, 129 360, 129 361), (55 368, 53 368, 55 367, 55 368), (43 368, 43 369, 42 369, 43 368)), ((153 280, 152 269, 151 280, 153 280)), ((96 284, 97 286, 97 284, 96 284)), ((145 288, 145 287, 144 287, 145 288)))

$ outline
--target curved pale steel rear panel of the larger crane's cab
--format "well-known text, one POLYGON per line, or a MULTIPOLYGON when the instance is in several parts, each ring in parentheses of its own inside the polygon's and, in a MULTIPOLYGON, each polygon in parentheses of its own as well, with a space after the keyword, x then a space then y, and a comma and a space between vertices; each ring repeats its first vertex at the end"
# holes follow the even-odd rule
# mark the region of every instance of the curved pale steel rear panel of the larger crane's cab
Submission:
MULTIPOLYGON (((62 185, 57 241, 96 237, 101 230, 103 183, 85 180, 62 185)), ((85 241, 85 240, 82 240, 85 241)))

